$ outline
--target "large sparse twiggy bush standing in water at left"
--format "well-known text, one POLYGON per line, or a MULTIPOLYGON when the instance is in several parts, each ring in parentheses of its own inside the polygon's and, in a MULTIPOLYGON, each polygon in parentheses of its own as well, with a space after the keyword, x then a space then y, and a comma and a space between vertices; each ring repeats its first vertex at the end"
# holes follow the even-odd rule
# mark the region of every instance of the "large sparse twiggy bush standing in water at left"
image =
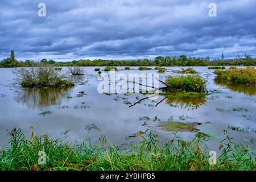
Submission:
POLYGON ((16 80, 24 87, 37 88, 68 88, 75 83, 67 80, 64 73, 60 73, 53 67, 20 68, 14 74, 16 80))

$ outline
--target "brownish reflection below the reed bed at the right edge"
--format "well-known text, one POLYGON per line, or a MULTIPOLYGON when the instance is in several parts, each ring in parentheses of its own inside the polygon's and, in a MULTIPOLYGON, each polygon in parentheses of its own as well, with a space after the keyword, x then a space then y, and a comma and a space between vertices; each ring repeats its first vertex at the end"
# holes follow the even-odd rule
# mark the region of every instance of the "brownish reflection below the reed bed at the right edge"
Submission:
POLYGON ((244 93, 248 96, 254 96, 256 95, 256 86, 248 86, 245 84, 229 84, 227 82, 222 82, 214 79, 214 83, 220 86, 225 86, 226 88, 238 92, 238 93, 244 93))

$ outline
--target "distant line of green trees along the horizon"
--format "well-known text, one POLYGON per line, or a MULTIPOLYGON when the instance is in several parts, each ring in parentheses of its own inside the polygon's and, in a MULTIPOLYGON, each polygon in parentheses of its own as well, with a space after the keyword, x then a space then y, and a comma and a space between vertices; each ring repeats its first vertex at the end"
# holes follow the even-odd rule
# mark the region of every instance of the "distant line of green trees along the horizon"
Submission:
POLYGON ((11 68, 11 67, 36 67, 39 64, 54 67, 135 67, 135 66, 164 66, 164 67, 185 67, 185 66, 256 66, 256 58, 251 55, 245 55, 244 57, 236 57, 235 59, 224 60, 224 54, 221 55, 222 59, 215 59, 210 61, 209 57, 187 57, 181 55, 179 57, 171 56, 158 56, 154 61, 143 59, 143 60, 131 60, 131 61, 118 61, 118 60, 73 60, 68 62, 54 61, 42 59, 40 61, 26 60, 18 61, 15 59, 14 51, 11 51, 10 58, 6 58, 0 62, 0 67, 11 68))

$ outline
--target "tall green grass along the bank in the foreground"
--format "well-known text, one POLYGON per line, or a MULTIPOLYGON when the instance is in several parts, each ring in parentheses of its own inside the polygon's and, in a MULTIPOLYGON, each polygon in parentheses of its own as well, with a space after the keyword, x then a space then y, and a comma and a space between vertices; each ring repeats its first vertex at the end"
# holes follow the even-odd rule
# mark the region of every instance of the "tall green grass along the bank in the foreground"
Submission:
POLYGON ((199 133, 192 142, 176 136, 160 144, 147 130, 130 150, 113 146, 106 137, 100 141, 71 146, 33 133, 28 140, 20 129, 13 130, 9 147, 0 153, 0 170, 255 170, 255 152, 233 143, 228 135, 220 142, 216 165, 209 164, 208 151, 203 150, 205 138, 199 133), (46 152, 44 166, 38 165, 39 151, 46 152))

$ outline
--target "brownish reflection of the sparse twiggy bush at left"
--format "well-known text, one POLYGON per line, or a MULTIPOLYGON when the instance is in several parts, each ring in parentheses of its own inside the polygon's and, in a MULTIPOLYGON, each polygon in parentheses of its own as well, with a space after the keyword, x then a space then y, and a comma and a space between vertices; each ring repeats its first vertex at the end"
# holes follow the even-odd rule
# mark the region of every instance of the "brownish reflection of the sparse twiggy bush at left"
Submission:
POLYGON ((70 91, 57 88, 23 88, 17 92, 15 100, 29 108, 43 108, 49 105, 60 104, 70 91))

